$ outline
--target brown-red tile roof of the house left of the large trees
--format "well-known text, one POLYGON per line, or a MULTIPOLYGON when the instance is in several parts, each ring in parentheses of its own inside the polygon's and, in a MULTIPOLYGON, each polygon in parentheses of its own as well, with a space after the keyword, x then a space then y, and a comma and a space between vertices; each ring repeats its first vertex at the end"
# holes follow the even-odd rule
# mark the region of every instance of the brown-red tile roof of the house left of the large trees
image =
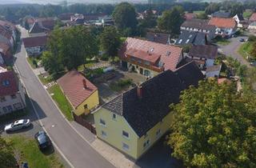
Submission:
POLYGON ((22 41, 24 42, 25 47, 46 46, 47 38, 47 36, 22 38, 22 41))

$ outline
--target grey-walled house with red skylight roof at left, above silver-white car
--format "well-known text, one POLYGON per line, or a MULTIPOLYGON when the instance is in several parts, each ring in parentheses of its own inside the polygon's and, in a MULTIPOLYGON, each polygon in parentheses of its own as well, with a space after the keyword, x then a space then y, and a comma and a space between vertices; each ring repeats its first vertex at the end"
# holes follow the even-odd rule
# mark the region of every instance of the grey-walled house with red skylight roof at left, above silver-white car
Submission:
POLYGON ((26 107, 24 88, 14 71, 0 73, 0 115, 26 107))

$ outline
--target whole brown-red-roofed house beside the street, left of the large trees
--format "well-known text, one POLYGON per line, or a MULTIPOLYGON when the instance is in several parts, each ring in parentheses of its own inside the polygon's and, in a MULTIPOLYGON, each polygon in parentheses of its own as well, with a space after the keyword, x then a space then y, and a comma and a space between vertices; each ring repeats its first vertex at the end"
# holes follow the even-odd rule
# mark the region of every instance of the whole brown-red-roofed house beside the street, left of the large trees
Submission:
POLYGON ((47 36, 22 38, 28 56, 38 56, 46 49, 47 36))

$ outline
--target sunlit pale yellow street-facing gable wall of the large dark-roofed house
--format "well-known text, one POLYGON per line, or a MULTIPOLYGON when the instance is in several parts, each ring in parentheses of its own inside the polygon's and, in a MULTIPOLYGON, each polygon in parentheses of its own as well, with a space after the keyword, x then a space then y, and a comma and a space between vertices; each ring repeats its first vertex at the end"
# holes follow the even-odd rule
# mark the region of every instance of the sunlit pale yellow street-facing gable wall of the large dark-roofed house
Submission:
POLYGON ((101 108, 94 113, 94 123, 98 138, 114 146, 124 154, 129 155, 131 158, 138 158, 138 135, 129 126, 125 118, 116 114, 116 119, 114 119, 112 112, 101 108), (101 118, 106 122, 106 126, 100 124, 101 118), (129 138, 122 135, 122 130, 129 133, 129 138), (102 135, 102 131, 106 133, 106 136, 102 135), (122 143, 126 143, 129 146, 129 150, 123 149, 122 143))

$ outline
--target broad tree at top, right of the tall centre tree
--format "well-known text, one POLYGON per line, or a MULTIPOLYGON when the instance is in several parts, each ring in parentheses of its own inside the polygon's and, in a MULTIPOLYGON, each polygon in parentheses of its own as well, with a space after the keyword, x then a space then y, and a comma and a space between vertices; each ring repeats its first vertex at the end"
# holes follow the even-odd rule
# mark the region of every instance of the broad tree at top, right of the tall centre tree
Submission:
POLYGON ((158 18, 158 28, 170 31, 171 34, 179 34, 183 21, 184 10, 181 6, 174 6, 171 10, 164 11, 162 17, 158 18))

